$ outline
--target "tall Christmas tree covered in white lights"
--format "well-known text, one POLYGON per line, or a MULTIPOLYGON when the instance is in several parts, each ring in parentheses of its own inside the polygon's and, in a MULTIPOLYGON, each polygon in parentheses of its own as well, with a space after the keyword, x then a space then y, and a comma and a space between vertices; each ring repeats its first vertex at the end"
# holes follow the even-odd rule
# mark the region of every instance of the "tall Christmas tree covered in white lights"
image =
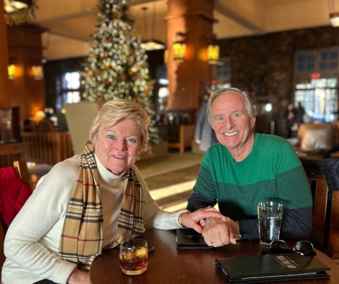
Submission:
POLYGON ((83 97, 89 101, 138 101, 151 117, 150 142, 157 143, 151 101, 154 82, 149 75, 147 55, 128 17, 127 0, 99 0, 99 9, 90 55, 82 73, 83 97))

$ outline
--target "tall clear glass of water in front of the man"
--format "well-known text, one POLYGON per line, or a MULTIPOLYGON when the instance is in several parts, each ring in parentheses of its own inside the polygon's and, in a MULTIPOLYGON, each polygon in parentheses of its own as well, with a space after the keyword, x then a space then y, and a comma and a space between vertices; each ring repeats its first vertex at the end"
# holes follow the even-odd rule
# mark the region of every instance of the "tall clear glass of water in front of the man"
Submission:
POLYGON ((272 241, 279 240, 283 206, 274 201, 262 201, 257 206, 260 245, 269 247, 272 241))

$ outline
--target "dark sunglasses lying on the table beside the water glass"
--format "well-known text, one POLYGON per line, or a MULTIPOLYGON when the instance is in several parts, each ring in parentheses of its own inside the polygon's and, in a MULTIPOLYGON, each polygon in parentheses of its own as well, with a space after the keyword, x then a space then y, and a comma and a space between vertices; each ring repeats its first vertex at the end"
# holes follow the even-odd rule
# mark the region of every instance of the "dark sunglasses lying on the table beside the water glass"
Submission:
POLYGON ((289 252, 296 252, 303 256, 315 256, 317 254, 314 250, 313 244, 309 241, 299 241, 291 249, 289 248, 287 243, 285 243, 285 241, 277 240, 271 243, 269 250, 262 250, 262 255, 289 253, 289 252))

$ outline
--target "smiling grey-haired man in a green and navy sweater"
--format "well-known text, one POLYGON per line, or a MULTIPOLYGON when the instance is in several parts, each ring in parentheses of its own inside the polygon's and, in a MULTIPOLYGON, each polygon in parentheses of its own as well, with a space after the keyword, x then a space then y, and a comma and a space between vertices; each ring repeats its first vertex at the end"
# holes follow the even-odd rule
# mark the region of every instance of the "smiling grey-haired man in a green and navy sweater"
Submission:
POLYGON ((209 218, 203 230, 208 245, 259 239, 257 203, 283 204, 280 238, 309 237, 312 195, 301 162, 284 139, 254 133, 255 109, 236 88, 214 91, 207 103, 208 121, 218 141, 201 163, 188 210, 219 205, 228 219, 209 218))

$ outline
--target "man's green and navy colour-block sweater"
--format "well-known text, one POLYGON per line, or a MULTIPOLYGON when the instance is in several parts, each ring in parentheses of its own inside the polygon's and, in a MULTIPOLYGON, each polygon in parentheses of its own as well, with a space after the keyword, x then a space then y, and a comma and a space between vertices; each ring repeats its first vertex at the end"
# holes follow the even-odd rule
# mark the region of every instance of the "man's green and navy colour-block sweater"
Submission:
POLYGON ((201 163, 188 210, 219 205, 238 220, 243 238, 258 239, 257 203, 283 204, 281 238, 308 238, 312 230, 312 194, 294 149, 286 140, 255 134, 252 151, 235 162, 227 148, 212 145, 201 163))

